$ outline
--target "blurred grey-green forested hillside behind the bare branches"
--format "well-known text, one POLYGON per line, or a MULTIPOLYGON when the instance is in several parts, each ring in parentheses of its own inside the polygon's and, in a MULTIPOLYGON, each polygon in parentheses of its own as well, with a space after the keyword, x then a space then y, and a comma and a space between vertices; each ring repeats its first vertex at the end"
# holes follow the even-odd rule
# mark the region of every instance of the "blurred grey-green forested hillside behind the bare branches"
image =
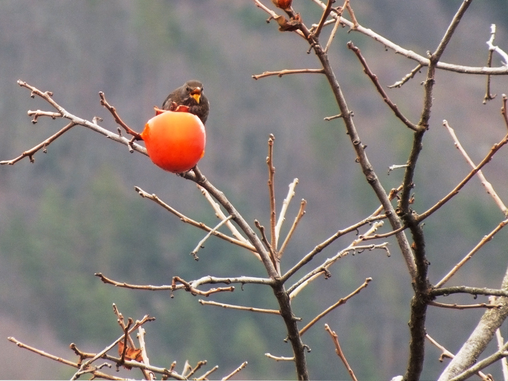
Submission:
MULTIPOLYGON (((265 1, 271 6, 269 1, 265 1)), ((404 48, 425 55, 434 50, 461 1, 354 0, 359 22, 404 48)), ((319 22, 321 8, 295 0, 307 25, 319 22)), ((41 99, 16 84, 22 79, 69 112, 116 131, 99 104, 99 91, 135 130, 153 116, 169 91, 187 79, 203 81, 210 100, 206 155, 199 167, 252 223, 267 226, 266 186, 268 134, 275 135, 277 210, 288 184, 298 177, 296 198, 287 214, 288 231, 299 206, 307 213, 285 252, 288 269, 337 230, 369 215, 378 206, 365 181, 340 119, 326 122, 338 108, 325 79, 290 75, 253 80, 252 74, 281 69, 318 68, 307 43, 280 33, 275 22, 251 1, 45 1, 0 2, 0 160, 8 160, 59 130, 64 121, 39 118, 33 125, 27 110, 52 111, 41 99)), ((497 24, 495 44, 508 49, 508 3, 473 2, 442 60, 484 66, 490 24, 497 24)), ((328 36, 325 30, 324 36, 328 36)), ((395 120, 345 44, 362 49, 380 82, 390 85, 416 66, 355 32, 336 35, 330 60, 355 113, 362 142, 386 188, 400 184, 411 132, 395 120)), ((495 56, 494 66, 499 65, 495 56)), ((412 121, 419 119, 424 75, 389 95, 412 121)), ((419 162, 415 209, 426 210, 447 194, 469 168, 441 125, 447 119, 474 161, 478 162, 506 133, 499 114, 500 95, 487 105, 483 76, 438 71, 430 132, 419 162)), ((493 93, 508 92, 508 78, 492 79, 493 93)), ((500 197, 508 200, 508 161, 503 149, 484 169, 500 197)), ((102 272, 137 284, 170 284, 171 277, 264 275, 261 264, 245 250, 211 238, 196 262, 189 252, 203 231, 182 224, 154 203, 140 198, 138 185, 180 212, 209 226, 216 218, 194 183, 155 167, 147 157, 75 127, 48 147, 47 154, 0 167, 0 368, 1 378, 69 378, 74 370, 42 359, 7 341, 8 336, 57 356, 74 359, 71 342, 100 351, 121 332, 112 312, 116 303, 125 316, 156 317, 145 326, 153 365, 169 367, 185 359, 219 365, 216 377, 248 361, 239 378, 291 379, 292 364, 274 362, 264 353, 292 356, 283 343, 279 317, 225 310, 198 303, 185 292, 171 299, 166 292, 116 289, 93 276, 102 272)), ((473 179, 449 205, 426 221, 431 282, 438 281, 502 219, 502 214, 473 179)), ((385 227, 382 232, 387 232, 385 227)), ((351 243, 336 241, 317 262, 351 243)), ((449 285, 498 288, 506 267, 508 233, 501 231, 449 285)), ((316 281, 294 301, 308 322, 324 308, 373 281, 360 295, 339 307, 304 336, 313 379, 345 379, 330 338, 328 323, 359 379, 389 379, 402 374, 407 361, 410 278, 395 241, 392 256, 363 252, 342 259, 328 280, 316 281)), ((310 269, 310 267, 304 270, 310 269)), ((302 275, 297 274, 298 275, 302 275)), ((211 300, 276 308, 270 289, 239 287, 211 300)), ((454 296, 447 302, 472 302, 454 296)), ((482 298, 479 298, 482 299, 482 298)), ((442 300, 444 301, 444 300, 442 300)), ((482 310, 429 307, 428 333, 456 352, 482 310)), ((506 324, 504 334, 508 334, 506 324)), ((437 376, 439 351, 428 345, 422 379, 437 376)), ((488 371, 496 375, 499 367, 488 371)), ((129 375, 122 371, 120 374, 129 375)), ((140 374, 132 373, 131 377, 140 374)))

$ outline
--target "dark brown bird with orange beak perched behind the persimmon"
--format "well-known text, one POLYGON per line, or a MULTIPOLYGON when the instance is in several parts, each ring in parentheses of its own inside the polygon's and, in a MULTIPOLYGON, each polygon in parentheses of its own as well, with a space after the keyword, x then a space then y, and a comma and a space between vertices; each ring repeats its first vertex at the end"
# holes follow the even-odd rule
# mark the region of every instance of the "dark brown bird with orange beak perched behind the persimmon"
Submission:
POLYGON ((189 112, 196 115, 205 124, 210 111, 210 103, 203 94, 203 84, 195 79, 187 81, 183 86, 173 90, 162 104, 163 110, 171 110, 172 104, 189 107, 189 112))

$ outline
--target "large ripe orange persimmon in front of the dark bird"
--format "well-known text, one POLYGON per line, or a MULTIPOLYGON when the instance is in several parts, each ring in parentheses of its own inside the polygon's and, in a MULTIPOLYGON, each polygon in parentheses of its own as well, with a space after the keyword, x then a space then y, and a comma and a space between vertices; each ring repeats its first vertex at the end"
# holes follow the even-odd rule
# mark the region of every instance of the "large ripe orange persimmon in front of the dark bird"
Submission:
POLYGON ((154 116, 146 122, 141 138, 153 164, 169 172, 188 171, 205 154, 205 126, 186 111, 154 116))

